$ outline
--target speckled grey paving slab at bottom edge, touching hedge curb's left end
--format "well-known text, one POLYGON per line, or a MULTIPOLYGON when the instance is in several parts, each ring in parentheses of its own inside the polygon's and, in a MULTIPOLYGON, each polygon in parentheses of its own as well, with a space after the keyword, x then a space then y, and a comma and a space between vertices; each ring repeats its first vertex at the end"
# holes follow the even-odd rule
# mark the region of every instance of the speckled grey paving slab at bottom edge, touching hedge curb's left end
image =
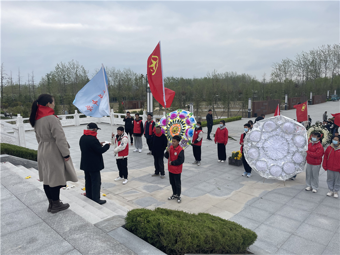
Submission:
POLYGON ((99 228, 90 225, 64 237, 82 255, 102 254, 119 244, 99 228))

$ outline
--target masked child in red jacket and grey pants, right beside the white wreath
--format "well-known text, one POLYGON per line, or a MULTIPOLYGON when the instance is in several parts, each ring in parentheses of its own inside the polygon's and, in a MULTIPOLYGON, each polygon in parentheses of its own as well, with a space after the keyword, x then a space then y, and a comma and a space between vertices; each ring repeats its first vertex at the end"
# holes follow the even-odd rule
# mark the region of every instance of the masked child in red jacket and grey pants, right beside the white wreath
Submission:
POLYGON ((314 193, 319 188, 319 172, 323 162, 324 150, 321 141, 321 134, 319 132, 313 133, 311 142, 308 144, 308 151, 306 151, 306 190, 312 190, 314 193))

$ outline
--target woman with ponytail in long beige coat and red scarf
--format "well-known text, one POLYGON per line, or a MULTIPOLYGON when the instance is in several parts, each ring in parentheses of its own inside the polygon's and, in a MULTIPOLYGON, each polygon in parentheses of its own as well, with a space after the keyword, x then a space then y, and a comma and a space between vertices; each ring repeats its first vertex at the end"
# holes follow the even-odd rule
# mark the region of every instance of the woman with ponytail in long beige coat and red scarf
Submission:
POLYGON ((49 200, 48 212, 57 213, 69 207, 60 202, 60 188, 78 178, 69 156, 69 145, 60 120, 54 116, 54 98, 41 94, 32 104, 30 123, 38 145, 38 171, 40 182, 49 200))

